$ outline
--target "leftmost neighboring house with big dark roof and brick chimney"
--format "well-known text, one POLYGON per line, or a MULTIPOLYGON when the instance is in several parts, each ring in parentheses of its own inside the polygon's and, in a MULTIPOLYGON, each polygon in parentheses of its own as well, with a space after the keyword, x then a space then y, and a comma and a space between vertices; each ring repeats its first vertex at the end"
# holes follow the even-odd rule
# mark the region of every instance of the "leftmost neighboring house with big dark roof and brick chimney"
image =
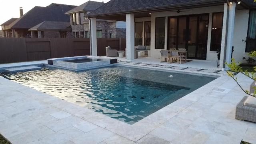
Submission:
MULTIPOLYGON (((16 19, 14 22, 6 26, 3 30, 6 32, 7 38, 31 38, 32 34, 29 31, 30 28, 44 22, 44 21, 53 21, 53 22, 69 22, 69 16, 64 13, 75 8, 76 6, 65 5, 65 4, 50 4, 46 7, 35 6, 26 14, 16 19)), ((22 8, 21 8, 22 9, 22 8)), ((60 31, 59 33, 61 33, 60 31)), ((55 33, 55 32, 54 32, 55 33)), ((45 35, 45 34, 44 34, 45 35)), ((50 36, 51 34, 48 34, 50 36)), ((52 34, 54 37, 55 34, 52 34)), ((34 35, 36 36, 36 34, 34 35)))

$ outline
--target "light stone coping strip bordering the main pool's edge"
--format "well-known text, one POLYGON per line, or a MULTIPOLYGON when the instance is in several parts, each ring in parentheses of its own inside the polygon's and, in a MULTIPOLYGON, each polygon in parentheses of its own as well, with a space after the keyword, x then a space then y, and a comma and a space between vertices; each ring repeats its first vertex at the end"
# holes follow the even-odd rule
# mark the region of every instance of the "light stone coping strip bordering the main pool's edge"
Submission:
MULTIPOLYGON (((46 65, 46 64, 44 64, 46 65)), ((120 66, 126 66, 123 64, 114 64, 114 65, 120 65, 120 66)), ((47 65, 46 65, 47 66, 47 65)), ((128 65, 131 67, 130 65, 128 65)), ((147 68, 143 66, 135 66, 136 68, 147 68)), ((154 69, 156 68, 148 68, 148 69, 154 69)), ((159 68, 157 68, 159 69, 159 68)), ((160 68, 163 70, 166 70, 165 68, 160 68)), ((168 69, 167 69, 168 70, 168 69)), ((168 70, 170 72, 184 72, 184 70, 168 70)), ((185 71, 184 73, 188 73, 188 71, 185 71)), ((191 72, 192 74, 202 74, 202 72, 191 72)), ((212 75, 212 74, 207 74, 212 75)), ((219 88, 220 84, 224 84, 228 80, 228 76, 223 74, 213 74, 214 76, 219 76, 212 82, 209 82, 208 84, 194 90, 193 92, 187 94, 186 96, 183 96, 182 98, 176 100, 175 102, 165 106, 164 108, 161 108, 160 110, 154 112, 153 114, 150 114, 146 118, 143 118, 139 122, 136 122, 135 124, 127 124, 125 122, 121 122, 119 120, 116 120, 114 118, 110 118, 104 114, 94 112, 93 110, 86 109, 82 106, 77 106, 75 104, 72 104, 71 102, 66 102, 65 100, 61 100, 59 98, 56 98, 54 96, 45 94, 43 92, 39 92, 37 90, 34 90, 32 88, 28 88, 26 86, 23 86, 21 84, 18 84, 16 82, 12 82, 8 79, 5 79, 2 81, 2 84, 10 84, 10 85, 16 85, 18 91, 28 94, 32 99, 36 98, 36 100, 39 100, 41 102, 44 102, 48 105, 54 106, 56 108, 59 108, 60 110, 63 110, 65 112, 68 112, 69 114, 72 114, 74 116, 77 116, 83 120, 86 120, 92 124, 95 124, 96 126, 99 126, 101 128, 104 128, 106 130, 109 130, 115 134, 118 134, 120 136, 123 136, 124 138, 128 138, 129 140, 132 140, 133 142, 138 141, 142 137, 146 136, 150 132, 152 132, 155 128, 162 125, 167 120, 170 120, 177 114, 181 113, 182 111, 186 110, 186 108, 192 106, 195 102, 200 100, 204 96, 204 94, 208 94, 209 92, 212 92, 214 88, 219 88), (29 93, 32 92, 32 93, 29 93), (188 101, 190 104, 183 106, 178 106, 180 102, 182 101, 188 101), (166 114, 168 113, 168 114, 166 114)), ((2 79, 0 77, 0 79, 2 79)), ((0 81, 1 82, 1 81, 0 81)))

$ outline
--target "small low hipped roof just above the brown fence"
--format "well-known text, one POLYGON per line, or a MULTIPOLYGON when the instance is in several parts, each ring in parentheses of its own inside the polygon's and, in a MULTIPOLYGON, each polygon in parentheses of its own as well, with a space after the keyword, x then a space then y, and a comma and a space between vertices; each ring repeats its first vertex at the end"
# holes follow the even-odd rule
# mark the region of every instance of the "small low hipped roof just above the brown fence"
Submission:
POLYGON ((71 30, 69 26, 70 26, 70 22, 44 21, 30 28, 29 31, 30 30, 71 30))

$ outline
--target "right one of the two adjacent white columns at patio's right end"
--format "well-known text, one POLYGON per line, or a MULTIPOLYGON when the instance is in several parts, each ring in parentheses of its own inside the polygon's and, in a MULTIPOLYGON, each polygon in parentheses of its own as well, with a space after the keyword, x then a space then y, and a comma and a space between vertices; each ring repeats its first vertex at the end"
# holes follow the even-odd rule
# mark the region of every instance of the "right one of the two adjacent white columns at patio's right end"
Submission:
MULTIPOLYGON (((234 24, 235 24, 235 12, 236 3, 230 2, 229 5, 229 15, 228 15, 228 33, 227 33, 227 47, 226 47, 226 59, 225 62, 231 63, 232 45, 233 45, 233 34, 234 34, 234 24)), ((225 69, 229 68, 225 66, 225 69)))

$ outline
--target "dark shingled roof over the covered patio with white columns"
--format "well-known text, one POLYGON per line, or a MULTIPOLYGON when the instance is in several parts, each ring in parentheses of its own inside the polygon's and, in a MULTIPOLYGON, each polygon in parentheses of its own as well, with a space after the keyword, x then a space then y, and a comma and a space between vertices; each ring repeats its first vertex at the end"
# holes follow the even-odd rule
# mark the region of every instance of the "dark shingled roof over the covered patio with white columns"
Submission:
POLYGON ((89 17, 111 14, 126 14, 147 10, 159 10, 188 6, 224 4, 226 0, 110 0, 100 8, 94 10, 89 17))

